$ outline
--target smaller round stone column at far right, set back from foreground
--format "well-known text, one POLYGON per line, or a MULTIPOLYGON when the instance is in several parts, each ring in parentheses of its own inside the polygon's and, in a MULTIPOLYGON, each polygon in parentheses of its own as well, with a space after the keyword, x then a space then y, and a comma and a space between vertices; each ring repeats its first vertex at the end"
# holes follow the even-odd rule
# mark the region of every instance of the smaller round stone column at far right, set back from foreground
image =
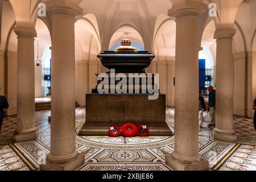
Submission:
POLYGON ((232 40, 236 30, 218 30, 214 34, 217 43, 216 56, 216 140, 237 142, 233 130, 234 63, 232 40))

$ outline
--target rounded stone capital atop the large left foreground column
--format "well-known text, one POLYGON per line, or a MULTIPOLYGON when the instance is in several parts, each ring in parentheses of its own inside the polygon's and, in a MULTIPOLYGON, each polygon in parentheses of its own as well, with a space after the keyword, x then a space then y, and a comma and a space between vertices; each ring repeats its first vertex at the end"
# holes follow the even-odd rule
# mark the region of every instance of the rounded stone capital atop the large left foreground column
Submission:
POLYGON ((46 7, 51 15, 64 14, 71 16, 82 15, 84 11, 70 0, 47 1, 46 7))

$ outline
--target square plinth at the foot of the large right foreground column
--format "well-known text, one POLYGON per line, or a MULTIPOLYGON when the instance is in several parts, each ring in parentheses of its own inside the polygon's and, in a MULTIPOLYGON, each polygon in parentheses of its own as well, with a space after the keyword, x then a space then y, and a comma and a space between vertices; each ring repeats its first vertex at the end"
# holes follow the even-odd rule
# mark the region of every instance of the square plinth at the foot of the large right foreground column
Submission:
POLYGON ((197 163, 187 164, 178 162, 172 157, 172 154, 166 154, 166 164, 175 171, 209 171, 209 163, 205 159, 201 159, 197 163))

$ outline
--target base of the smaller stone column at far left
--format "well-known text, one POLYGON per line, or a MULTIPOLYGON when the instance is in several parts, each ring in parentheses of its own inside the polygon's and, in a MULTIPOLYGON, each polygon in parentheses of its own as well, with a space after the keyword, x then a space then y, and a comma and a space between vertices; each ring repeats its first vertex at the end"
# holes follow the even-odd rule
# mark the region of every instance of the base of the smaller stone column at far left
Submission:
POLYGON ((13 143, 27 142, 36 140, 38 136, 38 130, 36 128, 26 131, 15 131, 13 135, 13 143))

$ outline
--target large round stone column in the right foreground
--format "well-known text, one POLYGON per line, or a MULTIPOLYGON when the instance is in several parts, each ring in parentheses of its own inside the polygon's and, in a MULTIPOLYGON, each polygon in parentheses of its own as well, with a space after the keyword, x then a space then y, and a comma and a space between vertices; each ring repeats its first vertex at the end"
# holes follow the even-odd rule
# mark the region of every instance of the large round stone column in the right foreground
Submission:
POLYGON ((203 3, 199 5, 171 9, 171 15, 176 17, 175 151, 166 155, 166 163, 181 171, 209 169, 208 162, 199 154, 200 45, 197 27, 201 9, 207 9, 203 3))

